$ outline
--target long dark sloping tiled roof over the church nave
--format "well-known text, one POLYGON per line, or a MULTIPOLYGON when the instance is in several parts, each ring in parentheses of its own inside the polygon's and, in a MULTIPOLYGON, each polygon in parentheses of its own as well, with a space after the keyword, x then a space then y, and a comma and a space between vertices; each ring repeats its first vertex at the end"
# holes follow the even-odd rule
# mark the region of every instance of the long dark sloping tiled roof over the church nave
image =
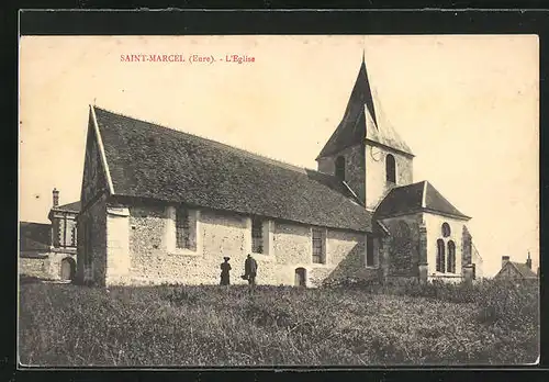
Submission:
POLYGON ((371 232, 334 176, 96 106, 112 192, 303 224, 371 232))

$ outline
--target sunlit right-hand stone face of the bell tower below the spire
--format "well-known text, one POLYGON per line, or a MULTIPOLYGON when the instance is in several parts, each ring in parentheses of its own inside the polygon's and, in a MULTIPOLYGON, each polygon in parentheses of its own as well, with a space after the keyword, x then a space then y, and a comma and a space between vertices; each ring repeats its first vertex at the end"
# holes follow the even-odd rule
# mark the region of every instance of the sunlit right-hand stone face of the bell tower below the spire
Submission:
POLYGON ((366 145, 366 206, 374 210, 386 193, 394 187, 413 183, 412 158, 396 151, 366 145), (386 181, 385 157, 388 154, 394 156, 396 165, 396 183, 386 181))

